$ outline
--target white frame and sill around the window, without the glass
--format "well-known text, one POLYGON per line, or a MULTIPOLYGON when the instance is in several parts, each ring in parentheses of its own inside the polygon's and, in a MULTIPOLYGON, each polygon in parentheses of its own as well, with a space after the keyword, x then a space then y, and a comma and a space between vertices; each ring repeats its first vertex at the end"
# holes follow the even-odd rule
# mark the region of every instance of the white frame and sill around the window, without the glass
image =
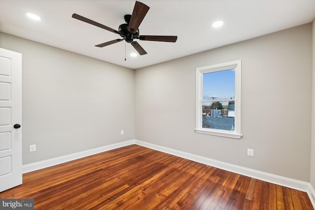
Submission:
MULTIPOLYGON (((241 134, 241 88, 242 88, 242 60, 234 60, 230 62, 209 65, 196 68, 196 128, 197 133, 224 136, 240 139, 241 134), (203 100, 203 74, 216 71, 235 70, 235 98, 234 98, 234 130, 220 130, 202 127, 202 100, 203 100)), ((229 99, 218 99, 218 101, 229 101, 229 99)))

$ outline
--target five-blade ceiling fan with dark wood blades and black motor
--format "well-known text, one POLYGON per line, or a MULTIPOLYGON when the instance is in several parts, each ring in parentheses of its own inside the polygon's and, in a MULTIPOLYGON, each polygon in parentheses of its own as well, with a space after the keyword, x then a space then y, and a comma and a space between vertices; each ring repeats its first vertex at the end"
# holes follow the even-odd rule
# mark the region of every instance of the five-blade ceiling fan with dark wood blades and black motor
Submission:
POLYGON ((111 29, 107 26, 104 26, 100 23, 97 23, 93 20, 90 20, 88 18, 85 18, 75 13, 72 15, 72 17, 80 21, 97 26, 99 28, 109 30, 113 33, 117 33, 121 37, 123 37, 122 39, 114 39, 112 41, 95 45, 95 47, 105 47, 110 44, 115 44, 117 42, 121 42, 125 40, 126 42, 130 43, 140 55, 145 55, 147 54, 147 52, 140 46, 138 42, 133 41, 133 39, 146 40, 146 41, 161 41, 161 42, 176 42, 177 40, 177 36, 152 36, 152 35, 139 34, 139 26, 141 22, 143 21, 144 17, 146 16, 147 12, 149 11, 149 9, 150 7, 147 6, 146 4, 136 1, 133 8, 132 15, 124 16, 126 23, 120 25, 118 30, 111 29))

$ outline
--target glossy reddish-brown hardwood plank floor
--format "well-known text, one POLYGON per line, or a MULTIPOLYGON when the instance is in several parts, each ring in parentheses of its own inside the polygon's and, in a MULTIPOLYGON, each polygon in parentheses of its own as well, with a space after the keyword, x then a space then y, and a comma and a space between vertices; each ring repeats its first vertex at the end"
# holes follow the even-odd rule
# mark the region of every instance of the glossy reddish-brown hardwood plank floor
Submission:
POLYGON ((314 210, 305 192, 131 145, 23 175, 35 210, 314 210))

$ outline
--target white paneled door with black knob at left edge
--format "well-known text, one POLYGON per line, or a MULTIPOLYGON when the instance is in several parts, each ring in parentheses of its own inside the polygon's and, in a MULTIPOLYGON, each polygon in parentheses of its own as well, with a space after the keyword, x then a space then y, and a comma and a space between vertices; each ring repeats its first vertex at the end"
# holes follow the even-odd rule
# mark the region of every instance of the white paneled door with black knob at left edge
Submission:
POLYGON ((0 192, 19 184, 22 184, 22 54, 0 48, 0 192))

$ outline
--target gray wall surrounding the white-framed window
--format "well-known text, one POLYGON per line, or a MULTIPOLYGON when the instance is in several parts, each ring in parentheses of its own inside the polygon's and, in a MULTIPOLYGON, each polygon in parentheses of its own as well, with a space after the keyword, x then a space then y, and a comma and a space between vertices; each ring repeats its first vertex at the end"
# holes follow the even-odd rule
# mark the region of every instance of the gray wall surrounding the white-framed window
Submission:
POLYGON ((136 139, 310 181, 312 24, 137 69, 135 92, 136 139), (195 68, 239 59, 244 137, 195 133, 195 68))

